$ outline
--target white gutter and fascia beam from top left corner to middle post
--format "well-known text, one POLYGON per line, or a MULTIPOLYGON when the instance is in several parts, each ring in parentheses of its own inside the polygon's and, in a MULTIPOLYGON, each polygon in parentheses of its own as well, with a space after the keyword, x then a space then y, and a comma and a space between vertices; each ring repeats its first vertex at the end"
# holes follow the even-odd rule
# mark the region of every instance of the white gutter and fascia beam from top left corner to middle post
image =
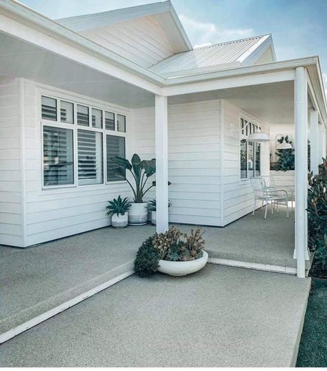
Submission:
POLYGON ((0 13, 3 14, 0 14, 0 31, 30 44, 91 67, 90 59, 97 59, 98 63, 106 64, 109 75, 152 93, 159 94, 159 87, 165 83, 164 77, 103 48, 21 3, 1 0, 0 13))

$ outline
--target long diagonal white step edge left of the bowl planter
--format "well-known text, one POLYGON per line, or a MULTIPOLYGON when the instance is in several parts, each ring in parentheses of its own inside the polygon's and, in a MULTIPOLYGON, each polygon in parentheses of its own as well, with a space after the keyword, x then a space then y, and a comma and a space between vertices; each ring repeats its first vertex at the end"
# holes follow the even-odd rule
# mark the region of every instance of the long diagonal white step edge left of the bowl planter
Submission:
POLYGON ((62 303, 58 305, 57 307, 54 307, 51 310, 48 310, 47 312, 44 312, 40 314, 39 316, 36 316, 30 319, 29 321, 26 321, 25 323, 22 323, 21 325, 18 325, 17 327, 12 328, 11 330, 8 330, 7 332, 3 332, 3 334, 0 335, 0 344, 4 343, 5 341, 8 341, 9 339, 12 339, 14 336, 17 336, 21 334, 22 332, 29 330, 30 328, 36 325, 39 325, 39 323, 44 322, 53 316, 56 316, 57 314, 63 312, 64 310, 68 310, 68 308, 72 307, 73 305, 81 303, 81 301, 84 301, 87 298, 90 298, 90 296, 93 296, 97 294, 98 292, 101 292, 104 289, 107 289, 108 287, 115 285, 115 283, 123 280, 124 278, 128 278, 132 274, 134 274, 134 271, 132 270, 119 274, 119 276, 111 278, 105 283, 101 283, 101 285, 93 289, 90 289, 87 292, 84 292, 83 294, 80 294, 76 296, 75 298, 72 298, 66 301, 65 303, 62 303))

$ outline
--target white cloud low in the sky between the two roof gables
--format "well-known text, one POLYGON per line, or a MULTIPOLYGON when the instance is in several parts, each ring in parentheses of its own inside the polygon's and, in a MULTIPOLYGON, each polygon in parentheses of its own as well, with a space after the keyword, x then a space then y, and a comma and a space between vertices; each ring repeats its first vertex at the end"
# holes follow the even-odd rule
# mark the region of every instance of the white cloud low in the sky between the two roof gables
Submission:
POLYGON ((215 23, 200 22, 183 14, 179 15, 179 19, 181 23, 183 23, 191 41, 196 44, 195 46, 197 47, 235 39, 244 39, 254 35, 254 30, 252 28, 221 29, 218 28, 215 23))

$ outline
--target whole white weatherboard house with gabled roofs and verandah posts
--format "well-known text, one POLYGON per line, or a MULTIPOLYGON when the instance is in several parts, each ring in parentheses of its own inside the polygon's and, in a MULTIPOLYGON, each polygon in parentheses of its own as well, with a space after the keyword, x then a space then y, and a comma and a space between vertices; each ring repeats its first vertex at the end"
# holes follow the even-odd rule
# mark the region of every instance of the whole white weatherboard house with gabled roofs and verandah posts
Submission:
POLYGON ((317 171, 326 124, 319 58, 276 61, 270 35, 193 48, 170 1, 57 20, 0 3, 0 244, 107 226, 107 201, 131 196, 110 157, 133 153, 157 159, 157 231, 168 197, 170 222, 224 227, 270 172, 248 135, 292 126, 304 277, 308 133, 317 171))

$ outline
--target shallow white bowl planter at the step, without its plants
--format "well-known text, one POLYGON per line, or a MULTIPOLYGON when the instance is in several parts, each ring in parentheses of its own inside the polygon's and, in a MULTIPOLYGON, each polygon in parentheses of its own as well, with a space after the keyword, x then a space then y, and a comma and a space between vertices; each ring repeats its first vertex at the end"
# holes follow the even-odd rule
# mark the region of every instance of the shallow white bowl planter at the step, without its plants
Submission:
POLYGON ((171 262, 168 260, 159 260, 158 271, 170 274, 170 276, 186 276, 202 269, 208 261, 208 253, 204 251, 202 258, 190 260, 187 262, 171 262))

